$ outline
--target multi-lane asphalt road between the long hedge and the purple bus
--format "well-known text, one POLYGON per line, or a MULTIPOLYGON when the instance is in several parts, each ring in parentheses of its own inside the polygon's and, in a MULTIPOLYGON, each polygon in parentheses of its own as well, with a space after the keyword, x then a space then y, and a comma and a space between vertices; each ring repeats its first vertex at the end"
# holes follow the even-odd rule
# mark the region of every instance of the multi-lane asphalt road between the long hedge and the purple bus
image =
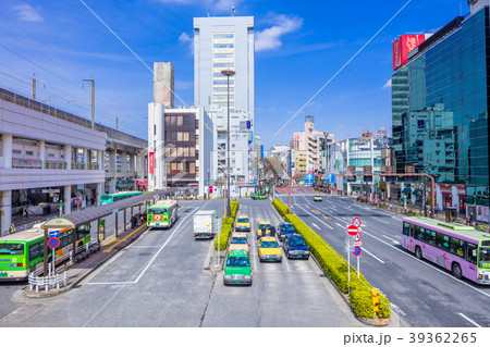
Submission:
MULTIPOLYGON (((293 212, 345 258, 346 226, 360 218, 360 272, 387 295, 406 325, 490 326, 490 287, 456 280, 449 271, 404 250, 401 215, 354 202, 352 197, 322 196, 321 202, 315 202, 311 194, 293 195, 293 212)), ((286 195, 279 198, 287 205, 286 195)), ((354 258, 351 261, 356 267, 354 258)))

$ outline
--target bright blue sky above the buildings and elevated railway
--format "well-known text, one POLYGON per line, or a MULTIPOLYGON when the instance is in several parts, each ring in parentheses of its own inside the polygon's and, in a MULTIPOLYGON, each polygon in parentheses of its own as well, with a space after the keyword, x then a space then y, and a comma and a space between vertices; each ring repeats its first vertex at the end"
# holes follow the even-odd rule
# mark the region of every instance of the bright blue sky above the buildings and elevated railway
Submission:
MULTIPOLYGON (((467 14, 466 0, 412 0, 281 133, 311 98, 408 0, 84 0, 150 67, 175 66, 175 92, 193 104, 193 17, 255 16, 256 129, 265 148, 287 144, 307 114, 336 139, 367 129, 391 132, 392 42, 402 34, 433 33, 467 14)), ((146 138, 152 75, 79 0, 0 4, 0 87, 90 115, 96 122, 146 138)), ((176 102, 179 104, 179 102, 176 102)))

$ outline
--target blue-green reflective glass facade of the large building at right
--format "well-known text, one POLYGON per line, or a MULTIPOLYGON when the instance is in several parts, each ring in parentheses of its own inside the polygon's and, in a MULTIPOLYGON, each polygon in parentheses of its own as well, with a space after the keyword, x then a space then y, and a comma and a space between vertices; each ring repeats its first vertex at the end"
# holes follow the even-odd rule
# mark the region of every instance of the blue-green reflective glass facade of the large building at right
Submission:
POLYGON ((414 165, 416 172, 434 176, 438 184, 465 186, 468 203, 486 206, 488 33, 489 10, 483 8, 392 76, 396 172, 414 165))

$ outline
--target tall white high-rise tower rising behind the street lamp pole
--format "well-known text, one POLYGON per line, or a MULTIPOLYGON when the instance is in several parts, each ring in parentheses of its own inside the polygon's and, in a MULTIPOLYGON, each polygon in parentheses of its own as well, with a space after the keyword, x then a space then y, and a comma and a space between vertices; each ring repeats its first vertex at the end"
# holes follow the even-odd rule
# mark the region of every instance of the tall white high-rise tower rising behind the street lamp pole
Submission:
MULTIPOLYGON (((253 16, 194 18, 194 103, 204 106, 212 122, 223 125, 225 135, 226 119, 217 119, 218 115, 222 116, 222 112, 216 112, 216 107, 220 107, 225 112, 228 92, 230 92, 231 113, 238 116, 240 121, 249 121, 246 146, 234 142, 236 139, 233 138, 233 135, 230 138, 231 151, 236 146, 241 150, 246 148, 248 151, 244 153, 246 160, 241 160, 241 162, 244 162, 241 166, 246 172, 238 173, 235 170, 231 173, 244 177, 245 181, 250 179, 248 171, 252 166, 249 163, 252 162, 250 156, 255 136, 254 42, 253 16), (235 72, 235 75, 230 77, 230 86, 228 85, 228 77, 221 74, 221 71, 225 69, 235 72), (215 112, 211 110, 215 110, 215 112), (245 116, 237 115, 238 113, 245 114, 245 116)), ((231 119, 231 125, 233 123, 233 119, 231 119)), ((215 145, 215 152, 225 151, 225 147, 218 148, 218 142, 215 145)), ((221 175, 220 171, 216 166, 211 181, 217 179, 219 175, 221 175)))

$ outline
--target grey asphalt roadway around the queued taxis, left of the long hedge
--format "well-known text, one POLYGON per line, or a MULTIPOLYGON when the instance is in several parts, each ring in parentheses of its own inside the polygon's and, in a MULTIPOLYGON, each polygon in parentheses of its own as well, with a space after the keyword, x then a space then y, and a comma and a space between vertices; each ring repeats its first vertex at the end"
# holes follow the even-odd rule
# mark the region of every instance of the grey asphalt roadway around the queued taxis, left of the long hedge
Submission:
MULTIPOLYGON (((0 326, 365 326, 322 277, 313 260, 260 263, 253 232, 254 283, 224 286, 207 263, 210 240, 194 240, 193 214, 224 211, 223 200, 183 201, 169 230, 150 230, 77 288, 28 299, 0 284, 0 326)), ((269 200, 241 199, 253 226, 280 222, 269 200)))

